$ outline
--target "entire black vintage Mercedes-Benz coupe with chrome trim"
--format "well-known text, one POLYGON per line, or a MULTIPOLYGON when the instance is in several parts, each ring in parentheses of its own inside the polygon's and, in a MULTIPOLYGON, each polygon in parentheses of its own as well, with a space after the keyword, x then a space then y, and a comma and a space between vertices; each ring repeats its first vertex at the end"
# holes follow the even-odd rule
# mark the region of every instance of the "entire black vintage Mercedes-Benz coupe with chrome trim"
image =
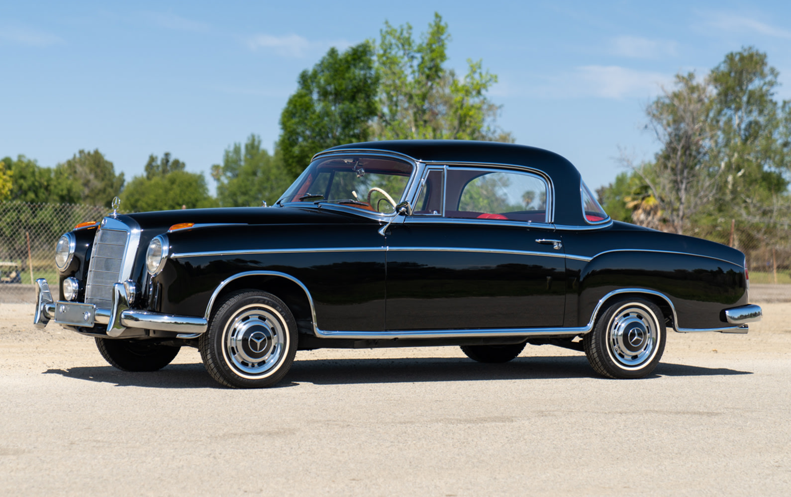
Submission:
POLYGON ((55 262, 60 299, 37 281, 36 324, 95 337, 121 370, 198 347, 238 388, 320 347, 506 362, 551 343, 605 377, 645 377, 666 328, 745 333, 761 317, 743 253, 614 222, 569 161, 494 142, 336 146, 271 207, 116 207, 64 234, 55 262))

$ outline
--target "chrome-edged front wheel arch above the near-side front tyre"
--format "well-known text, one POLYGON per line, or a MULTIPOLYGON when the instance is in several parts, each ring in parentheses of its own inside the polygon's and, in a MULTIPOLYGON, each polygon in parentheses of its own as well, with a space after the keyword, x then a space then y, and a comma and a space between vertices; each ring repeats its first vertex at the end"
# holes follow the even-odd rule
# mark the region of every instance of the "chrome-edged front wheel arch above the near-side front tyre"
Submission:
POLYGON ((226 295, 246 289, 262 290, 278 297, 297 321, 297 331, 316 336, 316 309, 310 291, 299 279, 278 271, 244 271, 224 279, 206 305, 206 321, 210 321, 226 295))

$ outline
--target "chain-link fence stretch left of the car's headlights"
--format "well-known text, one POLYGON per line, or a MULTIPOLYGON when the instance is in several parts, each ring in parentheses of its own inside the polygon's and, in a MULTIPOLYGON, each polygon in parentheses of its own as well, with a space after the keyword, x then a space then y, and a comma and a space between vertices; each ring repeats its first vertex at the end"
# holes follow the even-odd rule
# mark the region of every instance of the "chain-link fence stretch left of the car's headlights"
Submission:
POLYGON ((32 291, 36 278, 56 281, 58 238, 78 223, 98 221, 107 212, 100 206, 0 202, 0 302, 32 291))

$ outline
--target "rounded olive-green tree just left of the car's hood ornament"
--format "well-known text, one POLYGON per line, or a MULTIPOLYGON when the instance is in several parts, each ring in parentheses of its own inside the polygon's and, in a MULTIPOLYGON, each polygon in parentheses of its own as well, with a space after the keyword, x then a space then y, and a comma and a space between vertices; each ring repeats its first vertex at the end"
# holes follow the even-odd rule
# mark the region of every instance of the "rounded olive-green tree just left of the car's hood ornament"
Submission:
POLYGON ((80 150, 74 157, 55 166, 56 184, 70 180, 78 184, 78 203, 110 207, 113 197, 123 188, 123 173, 115 174, 111 161, 97 150, 80 150))

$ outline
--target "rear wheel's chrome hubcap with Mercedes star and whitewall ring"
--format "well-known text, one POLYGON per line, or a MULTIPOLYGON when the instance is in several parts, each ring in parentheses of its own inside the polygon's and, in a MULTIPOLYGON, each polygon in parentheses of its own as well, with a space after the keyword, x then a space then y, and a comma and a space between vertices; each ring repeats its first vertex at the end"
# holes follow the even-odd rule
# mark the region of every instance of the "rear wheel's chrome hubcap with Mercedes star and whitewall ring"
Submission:
POLYGON ((630 304, 615 313, 607 332, 612 359, 626 367, 641 366, 657 351, 657 317, 642 305, 630 304))

